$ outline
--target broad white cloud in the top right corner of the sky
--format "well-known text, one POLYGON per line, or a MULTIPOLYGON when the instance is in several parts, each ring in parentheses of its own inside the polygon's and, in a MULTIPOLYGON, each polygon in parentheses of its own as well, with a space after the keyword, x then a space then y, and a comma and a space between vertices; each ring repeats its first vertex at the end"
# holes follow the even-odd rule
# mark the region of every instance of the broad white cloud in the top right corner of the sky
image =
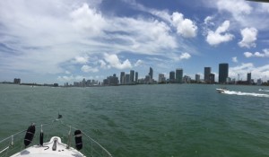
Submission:
POLYGON ((230 19, 234 22, 234 29, 242 27, 256 27, 259 31, 268 30, 268 4, 254 3, 246 0, 207 0, 207 6, 218 9, 220 19, 230 19), (208 2, 210 1, 210 2, 208 2), (266 6, 267 5, 267 6, 266 6))

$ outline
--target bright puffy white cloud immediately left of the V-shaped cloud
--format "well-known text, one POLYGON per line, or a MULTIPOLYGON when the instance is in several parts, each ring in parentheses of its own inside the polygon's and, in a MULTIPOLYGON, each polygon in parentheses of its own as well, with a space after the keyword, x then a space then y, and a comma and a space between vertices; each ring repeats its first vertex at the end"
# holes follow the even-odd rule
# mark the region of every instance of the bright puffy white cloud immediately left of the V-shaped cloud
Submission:
POLYGON ((173 13, 172 22, 175 27, 177 27, 178 34, 182 35, 185 38, 193 38, 197 33, 197 26, 195 22, 192 22, 189 19, 184 19, 182 13, 173 13))

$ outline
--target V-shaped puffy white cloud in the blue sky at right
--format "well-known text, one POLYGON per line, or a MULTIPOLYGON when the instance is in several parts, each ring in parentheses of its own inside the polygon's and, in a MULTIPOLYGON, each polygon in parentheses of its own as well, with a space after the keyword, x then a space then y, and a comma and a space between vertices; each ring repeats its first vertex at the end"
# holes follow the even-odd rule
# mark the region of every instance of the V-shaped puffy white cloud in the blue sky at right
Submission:
POLYGON ((208 31, 206 41, 213 46, 217 46, 222 42, 228 42, 234 38, 230 33, 227 33, 230 27, 230 21, 225 21, 217 28, 216 31, 208 31))

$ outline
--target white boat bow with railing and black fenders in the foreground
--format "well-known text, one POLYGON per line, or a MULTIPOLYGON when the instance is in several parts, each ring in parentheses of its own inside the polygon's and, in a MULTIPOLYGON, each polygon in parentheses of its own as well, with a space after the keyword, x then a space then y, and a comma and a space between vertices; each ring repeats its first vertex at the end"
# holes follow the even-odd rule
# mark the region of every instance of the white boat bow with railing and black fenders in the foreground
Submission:
POLYGON ((58 115, 58 118, 53 120, 52 123, 39 126, 31 124, 27 130, 18 132, 0 141, 0 156, 112 157, 111 153, 109 153, 101 144, 93 140, 89 135, 86 135, 74 126, 65 125, 59 118, 62 118, 62 116, 58 115), (56 123, 58 126, 55 126, 56 123), (35 135, 36 128, 38 127, 40 127, 39 135, 35 135), (47 134, 45 130, 54 130, 57 133, 56 135, 47 134), (65 131, 62 132, 63 130, 65 131), (73 130, 74 135, 71 133, 73 130), (44 143, 46 140, 48 140, 48 142, 44 143))

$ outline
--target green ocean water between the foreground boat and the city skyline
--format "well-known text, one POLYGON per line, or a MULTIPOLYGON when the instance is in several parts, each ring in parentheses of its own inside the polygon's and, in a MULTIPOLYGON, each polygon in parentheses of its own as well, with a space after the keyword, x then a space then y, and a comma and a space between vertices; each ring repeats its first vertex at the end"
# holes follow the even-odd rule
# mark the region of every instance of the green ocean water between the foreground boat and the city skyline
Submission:
POLYGON ((60 112, 115 157, 269 156, 269 92, 235 85, 216 92, 221 87, 0 84, 0 140, 60 112))

